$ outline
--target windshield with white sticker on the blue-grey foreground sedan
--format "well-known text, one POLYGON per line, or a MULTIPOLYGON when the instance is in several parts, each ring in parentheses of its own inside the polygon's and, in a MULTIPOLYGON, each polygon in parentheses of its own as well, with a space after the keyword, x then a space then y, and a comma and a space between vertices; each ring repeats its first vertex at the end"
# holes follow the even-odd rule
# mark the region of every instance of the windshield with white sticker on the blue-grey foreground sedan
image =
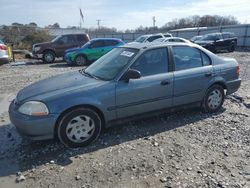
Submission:
POLYGON ((139 50, 115 48, 85 69, 85 73, 101 80, 113 80, 139 50))

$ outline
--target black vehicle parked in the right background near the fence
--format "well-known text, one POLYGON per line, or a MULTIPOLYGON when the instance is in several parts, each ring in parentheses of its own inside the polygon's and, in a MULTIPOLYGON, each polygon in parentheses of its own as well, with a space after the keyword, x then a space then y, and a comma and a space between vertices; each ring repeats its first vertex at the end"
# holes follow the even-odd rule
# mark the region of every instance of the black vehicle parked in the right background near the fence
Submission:
POLYGON ((237 37, 234 33, 211 33, 201 37, 201 39, 194 41, 194 43, 200 46, 216 52, 218 50, 228 50, 233 52, 237 46, 237 37))

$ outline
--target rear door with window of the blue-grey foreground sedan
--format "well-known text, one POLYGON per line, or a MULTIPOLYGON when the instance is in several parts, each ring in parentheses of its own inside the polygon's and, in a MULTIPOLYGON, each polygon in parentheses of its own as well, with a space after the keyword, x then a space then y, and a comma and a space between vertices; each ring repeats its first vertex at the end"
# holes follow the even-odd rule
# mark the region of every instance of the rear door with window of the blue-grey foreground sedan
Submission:
POLYGON ((197 48, 173 46, 174 106, 198 102, 213 79, 208 55, 197 48))

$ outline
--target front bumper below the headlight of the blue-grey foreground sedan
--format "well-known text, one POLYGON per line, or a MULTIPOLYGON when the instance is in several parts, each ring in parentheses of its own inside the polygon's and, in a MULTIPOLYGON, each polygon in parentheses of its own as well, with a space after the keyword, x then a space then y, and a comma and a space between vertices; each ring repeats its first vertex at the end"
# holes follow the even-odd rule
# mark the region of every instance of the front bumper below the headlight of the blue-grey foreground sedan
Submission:
POLYGON ((54 138, 54 130, 57 114, 50 114, 44 117, 33 117, 21 114, 12 101, 9 106, 9 117, 21 135, 31 140, 46 140, 54 138))

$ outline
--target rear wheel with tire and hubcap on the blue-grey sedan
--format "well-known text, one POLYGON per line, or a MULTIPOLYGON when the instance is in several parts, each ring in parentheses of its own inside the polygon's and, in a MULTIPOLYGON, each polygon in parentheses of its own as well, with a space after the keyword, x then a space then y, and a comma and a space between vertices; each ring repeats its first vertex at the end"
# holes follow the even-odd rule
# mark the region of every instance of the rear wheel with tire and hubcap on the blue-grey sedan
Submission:
POLYGON ((224 103, 225 93, 220 85, 212 85, 206 92, 203 100, 203 111, 208 113, 217 112, 224 103))

